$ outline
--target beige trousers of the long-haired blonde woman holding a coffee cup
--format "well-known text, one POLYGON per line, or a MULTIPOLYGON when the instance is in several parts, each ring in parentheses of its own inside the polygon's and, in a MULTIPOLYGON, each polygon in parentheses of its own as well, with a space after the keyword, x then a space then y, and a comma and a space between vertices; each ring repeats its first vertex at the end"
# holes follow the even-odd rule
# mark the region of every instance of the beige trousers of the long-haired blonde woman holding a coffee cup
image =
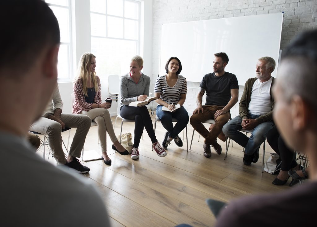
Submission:
POLYGON ((81 114, 90 117, 98 125, 98 136, 100 140, 102 152, 107 151, 107 132, 110 136, 111 142, 118 141, 114 134, 113 125, 109 111, 104 108, 94 108, 88 111, 82 111, 81 114))

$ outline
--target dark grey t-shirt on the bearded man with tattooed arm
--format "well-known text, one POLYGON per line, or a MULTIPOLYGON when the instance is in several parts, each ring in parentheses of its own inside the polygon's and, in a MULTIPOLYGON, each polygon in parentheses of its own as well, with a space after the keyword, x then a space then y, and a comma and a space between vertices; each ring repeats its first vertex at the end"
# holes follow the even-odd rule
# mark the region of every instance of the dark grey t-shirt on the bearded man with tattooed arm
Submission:
POLYGON ((225 72, 221 77, 215 73, 204 75, 200 85, 206 90, 205 105, 225 106, 231 98, 230 89, 239 89, 235 74, 225 72))

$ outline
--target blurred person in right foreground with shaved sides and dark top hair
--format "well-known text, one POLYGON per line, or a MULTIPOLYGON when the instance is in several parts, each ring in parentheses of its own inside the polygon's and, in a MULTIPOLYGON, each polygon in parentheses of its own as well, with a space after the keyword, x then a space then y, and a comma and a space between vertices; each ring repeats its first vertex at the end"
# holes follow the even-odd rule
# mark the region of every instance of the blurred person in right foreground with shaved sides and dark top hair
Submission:
POLYGON ((311 179, 285 192, 246 197, 224 208, 221 226, 312 226, 317 202, 317 30, 299 35, 285 50, 274 87, 274 119, 289 147, 310 160, 311 179))

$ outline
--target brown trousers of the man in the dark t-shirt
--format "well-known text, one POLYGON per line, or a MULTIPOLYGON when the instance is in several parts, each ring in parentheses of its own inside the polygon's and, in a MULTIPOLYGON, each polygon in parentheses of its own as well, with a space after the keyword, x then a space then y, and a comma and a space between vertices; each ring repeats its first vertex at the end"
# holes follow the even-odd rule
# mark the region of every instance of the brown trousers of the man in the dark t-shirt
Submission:
POLYGON ((205 143, 210 145, 216 141, 217 136, 222 132, 222 127, 225 123, 229 121, 230 113, 227 112, 218 116, 215 119, 215 126, 212 127, 209 132, 208 129, 203 125, 204 121, 209 119, 214 119, 215 113, 217 110, 222 110, 224 106, 215 106, 215 105, 204 105, 204 112, 200 112, 199 114, 193 114, 190 119, 191 126, 205 138, 205 143))

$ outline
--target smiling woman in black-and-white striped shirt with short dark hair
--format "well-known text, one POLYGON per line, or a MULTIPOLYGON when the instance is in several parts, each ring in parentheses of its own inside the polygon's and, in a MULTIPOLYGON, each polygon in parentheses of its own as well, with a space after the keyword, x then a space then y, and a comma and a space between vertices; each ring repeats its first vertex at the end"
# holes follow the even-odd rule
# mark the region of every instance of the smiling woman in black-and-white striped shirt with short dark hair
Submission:
POLYGON ((183 146, 178 134, 186 127, 189 121, 188 113, 183 107, 187 93, 187 81, 186 78, 179 75, 182 71, 180 60, 177 57, 171 57, 166 62, 165 70, 166 74, 156 80, 154 87, 154 96, 159 98, 155 100, 158 103, 156 116, 167 130, 162 143, 164 149, 167 148, 173 139, 178 147, 183 146), (173 112, 162 110, 163 106, 173 110, 177 104, 180 105, 180 108, 173 112), (175 126, 173 126, 172 118, 177 119, 175 126))

